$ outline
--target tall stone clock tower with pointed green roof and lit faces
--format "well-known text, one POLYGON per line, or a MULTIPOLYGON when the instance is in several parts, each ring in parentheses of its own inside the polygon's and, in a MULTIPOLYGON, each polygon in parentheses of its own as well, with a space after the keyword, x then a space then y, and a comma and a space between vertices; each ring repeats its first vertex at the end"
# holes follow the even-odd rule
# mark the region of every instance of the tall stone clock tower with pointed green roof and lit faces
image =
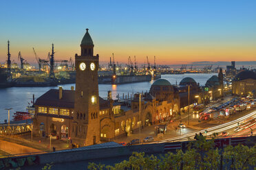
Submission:
POLYGON ((98 54, 94 56, 94 42, 86 29, 81 42, 81 56, 75 55, 76 90, 72 141, 80 147, 100 141, 98 54))

